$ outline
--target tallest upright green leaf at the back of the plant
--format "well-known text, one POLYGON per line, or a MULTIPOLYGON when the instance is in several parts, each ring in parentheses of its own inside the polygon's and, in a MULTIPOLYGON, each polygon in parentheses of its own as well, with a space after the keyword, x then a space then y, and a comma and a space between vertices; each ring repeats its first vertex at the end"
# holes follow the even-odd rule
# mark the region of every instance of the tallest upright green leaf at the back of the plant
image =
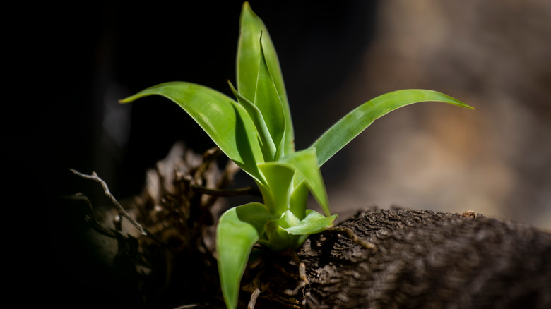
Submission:
MULTIPOLYGON (((283 74, 279 65, 278 54, 271 40, 270 34, 263 21, 252 11, 249 2, 244 2, 240 18, 239 43, 237 45, 237 90, 249 101, 254 102, 256 95, 256 80, 261 61, 262 44, 266 66, 273 78, 279 99, 285 113, 285 154, 295 151, 295 135, 283 83, 283 74), (260 36, 262 35, 262 42, 260 36)), ((278 146, 278 144, 275 144, 278 146)))

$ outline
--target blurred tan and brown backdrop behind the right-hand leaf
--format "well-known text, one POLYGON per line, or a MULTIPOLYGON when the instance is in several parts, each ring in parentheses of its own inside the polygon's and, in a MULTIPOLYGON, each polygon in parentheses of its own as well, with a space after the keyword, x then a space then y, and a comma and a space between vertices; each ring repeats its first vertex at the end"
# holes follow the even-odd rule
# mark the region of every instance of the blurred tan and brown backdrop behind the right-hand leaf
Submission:
MULTIPOLYGON (((474 210, 551 229, 551 1, 384 0, 377 37, 335 115, 384 92, 438 90, 350 146, 335 212, 377 205, 474 210)), ((336 119, 338 116, 336 116, 336 119)))

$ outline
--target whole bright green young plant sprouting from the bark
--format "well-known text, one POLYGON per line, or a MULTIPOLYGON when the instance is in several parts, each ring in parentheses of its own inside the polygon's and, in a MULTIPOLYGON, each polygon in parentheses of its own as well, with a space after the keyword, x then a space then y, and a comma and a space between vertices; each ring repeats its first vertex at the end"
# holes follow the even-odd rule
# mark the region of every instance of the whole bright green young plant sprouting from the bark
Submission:
POLYGON ((319 167, 375 119, 416 102, 436 101, 472 109, 431 90, 398 90, 352 110, 311 147, 295 152, 283 75, 262 20, 243 4, 237 50, 235 100, 193 83, 162 83, 121 100, 161 95, 179 104, 220 150, 259 186, 263 204, 227 210, 217 226, 218 268, 228 308, 235 308, 247 260, 255 243, 271 250, 298 248, 310 234, 333 226, 319 167), (307 210, 312 193, 324 214, 307 210))

